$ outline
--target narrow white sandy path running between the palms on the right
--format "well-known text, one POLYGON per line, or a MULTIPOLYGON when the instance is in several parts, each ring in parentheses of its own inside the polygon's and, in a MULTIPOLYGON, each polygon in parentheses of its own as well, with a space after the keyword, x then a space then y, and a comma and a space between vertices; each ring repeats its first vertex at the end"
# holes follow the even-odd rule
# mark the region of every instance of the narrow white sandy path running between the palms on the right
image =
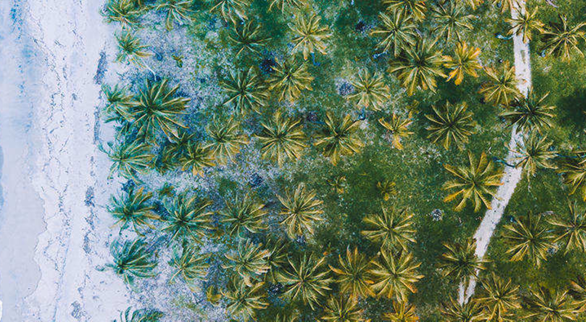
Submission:
MULTIPOLYGON (((524 0, 520 0, 516 3, 518 8, 524 12, 525 11, 525 2, 524 0)), ((516 18, 517 11, 512 10, 511 16, 516 18)), ((531 62, 530 62, 530 55, 529 55, 529 43, 523 43, 523 35, 514 35, 513 36, 513 48, 515 50, 515 75, 517 77, 517 81, 519 84, 517 88, 519 91, 527 96, 529 89, 531 88, 531 62)), ((509 141, 509 150, 515 149, 517 142, 522 145, 523 144, 523 136, 522 132, 516 133, 516 126, 513 126, 511 132, 511 138, 509 141)), ((509 152, 506 156, 506 162, 509 164, 514 164, 515 160, 515 153, 509 152)), ((505 173, 503 173, 503 177, 501 179, 502 186, 496 191, 496 197, 493 198, 492 202, 490 203, 489 209, 486 211, 484 218, 482 218, 482 222, 476 232, 474 234, 474 238, 476 239, 476 256, 478 258, 483 258, 486 254, 486 249, 488 249, 488 244, 490 242, 490 238, 495 232, 496 225, 499 223, 500 218, 502 217, 503 213, 505 212, 505 208, 507 204, 509 204, 509 200, 511 196, 513 196, 513 192, 515 191, 515 187, 517 183, 521 180, 522 169, 517 167, 505 167, 505 173)), ((459 287, 459 296, 458 299, 460 303, 470 299, 474 294, 474 290, 476 287, 476 279, 473 276, 470 279, 467 287, 464 287, 464 284, 460 285, 459 287), (464 289, 465 292, 464 292, 464 289)))

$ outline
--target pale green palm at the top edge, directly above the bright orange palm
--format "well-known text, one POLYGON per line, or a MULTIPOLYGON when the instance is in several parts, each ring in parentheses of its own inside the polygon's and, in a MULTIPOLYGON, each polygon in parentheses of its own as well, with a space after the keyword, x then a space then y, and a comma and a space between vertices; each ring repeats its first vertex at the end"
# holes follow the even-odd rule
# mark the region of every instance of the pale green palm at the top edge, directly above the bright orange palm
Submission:
POLYGON ((438 33, 438 37, 444 37, 447 42, 458 40, 462 42, 462 32, 472 30, 471 20, 473 15, 466 15, 464 6, 458 4, 458 1, 448 1, 444 4, 438 4, 432 8, 433 17, 437 26, 432 33, 438 33))

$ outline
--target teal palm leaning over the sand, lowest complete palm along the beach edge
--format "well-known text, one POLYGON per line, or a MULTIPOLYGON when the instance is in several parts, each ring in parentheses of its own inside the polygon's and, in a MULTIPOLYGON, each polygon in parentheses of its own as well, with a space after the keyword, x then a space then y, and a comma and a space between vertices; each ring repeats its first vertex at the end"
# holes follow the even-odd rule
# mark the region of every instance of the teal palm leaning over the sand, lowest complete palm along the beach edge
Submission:
POLYGON ((152 261, 152 252, 147 251, 147 244, 142 239, 124 241, 123 244, 115 239, 110 244, 110 254, 114 257, 114 263, 107 263, 106 266, 133 289, 135 279, 155 276, 152 270, 156 261, 152 261))

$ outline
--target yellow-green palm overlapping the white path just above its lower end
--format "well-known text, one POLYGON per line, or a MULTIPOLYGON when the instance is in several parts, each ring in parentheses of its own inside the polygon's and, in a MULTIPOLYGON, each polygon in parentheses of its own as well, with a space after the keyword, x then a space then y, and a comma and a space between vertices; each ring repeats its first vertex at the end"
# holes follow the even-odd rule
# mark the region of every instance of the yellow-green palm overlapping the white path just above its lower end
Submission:
POLYGON ((440 256, 442 275, 452 276, 461 281, 469 276, 477 276, 477 271, 486 269, 486 259, 476 256, 476 240, 466 239, 465 244, 443 242, 446 252, 440 256))

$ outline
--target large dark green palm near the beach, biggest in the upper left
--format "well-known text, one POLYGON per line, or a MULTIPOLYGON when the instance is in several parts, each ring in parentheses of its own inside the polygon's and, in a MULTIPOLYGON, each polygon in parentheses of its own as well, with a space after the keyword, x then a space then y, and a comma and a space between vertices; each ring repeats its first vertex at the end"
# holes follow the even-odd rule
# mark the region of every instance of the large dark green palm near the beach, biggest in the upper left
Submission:
POLYGON ((144 88, 139 89, 138 102, 134 107, 133 126, 138 127, 138 135, 148 141, 155 141, 156 132, 161 129, 167 138, 178 137, 178 127, 185 128, 175 117, 184 114, 189 98, 174 97, 179 85, 169 89, 168 80, 156 83, 147 81, 144 88))

